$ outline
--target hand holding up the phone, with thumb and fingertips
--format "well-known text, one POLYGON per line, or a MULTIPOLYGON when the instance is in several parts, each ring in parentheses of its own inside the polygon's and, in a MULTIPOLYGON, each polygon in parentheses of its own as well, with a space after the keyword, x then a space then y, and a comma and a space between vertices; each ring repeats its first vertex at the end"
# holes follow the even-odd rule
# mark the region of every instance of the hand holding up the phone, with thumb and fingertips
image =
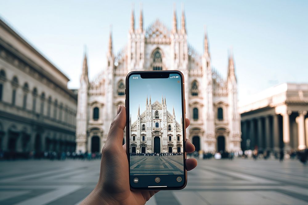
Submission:
MULTIPOLYGON (((99 181, 81 204, 145 204, 158 192, 130 189, 126 144, 122 146, 125 125, 125 107, 119 105, 102 150, 99 181)), ((189 125, 187 118, 185 125, 186 128, 189 125)), ((195 147, 189 140, 185 143, 185 150, 187 153, 195 151, 195 147)), ((185 164, 186 170, 189 171, 197 166, 197 160, 187 159, 185 164)))

